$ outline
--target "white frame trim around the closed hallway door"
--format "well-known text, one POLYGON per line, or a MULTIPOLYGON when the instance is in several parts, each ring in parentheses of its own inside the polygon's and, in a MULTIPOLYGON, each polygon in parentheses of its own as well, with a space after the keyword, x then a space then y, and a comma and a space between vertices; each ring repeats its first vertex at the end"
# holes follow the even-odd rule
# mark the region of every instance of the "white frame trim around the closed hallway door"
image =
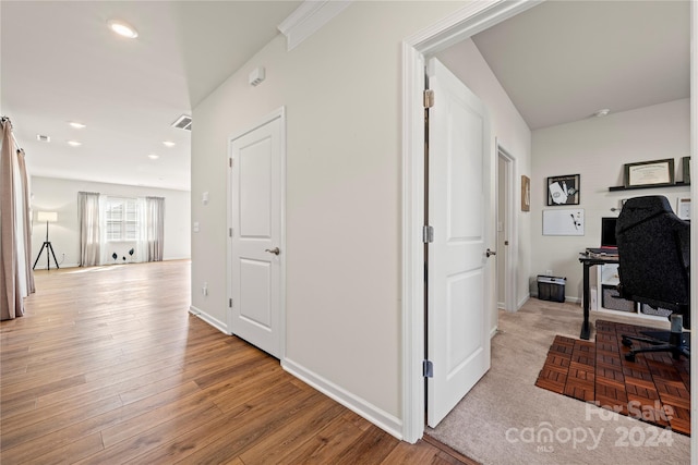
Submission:
POLYGON ((281 185, 279 186, 279 192, 280 192, 280 229, 281 229, 281 237, 279 238, 279 248, 281 249, 281 254, 278 256, 278 260, 279 260, 279 332, 280 332, 280 351, 279 351, 279 360, 281 363, 284 363, 284 359, 286 358, 286 107, 281 107, 275 111, 273 111, 272 113, 267 114, 266 117, 262 118, 260 121, 257 121, 256 124, 252 124, 249 127, 246 127, 245 130, 239 131, 233 133, 232 135, 230 135, 228 137, 228 155, 226 156, 226 164, 227 164, 227 169, 226 169, 226 204, 227 204, 227 224, 228 224, 228 231, 227 231, 227 235, 228 235, 228 241, 227 241, 227 248, 226 248, 226 254, 228 254, 227 260, 226 260, 226 266, 227 266, 227 270, 226 270, 226 276, 227 276, 227 282, 226 282, 226 287, 227 287, 227 292, 228 292, 228 309, 227 309, 227 315, 226 315, 226 325, 228 326, 228 333, 229 334, 233 334, 232 332, 232 318, 233 318, 233 313, 232 313, 232 307, 230 306, 230 302, 232 299, 232 269, 233 269, 233 264, 232 264, 232 235, 231 235, 231 230, 232 230, 232 204, 231 204, 231 198, 232 198, 232 180, 231 180, 231 175, 230 175, 230 159, 231 159, 231 145, 232 145, 232 140, 243 136, 244 134, 248 134, 261 126, 264 126, 265 124, 276 120, 276 119, 280 119, 280 131, 281 131, 281 137, 280 137, 280 182, 281 185))

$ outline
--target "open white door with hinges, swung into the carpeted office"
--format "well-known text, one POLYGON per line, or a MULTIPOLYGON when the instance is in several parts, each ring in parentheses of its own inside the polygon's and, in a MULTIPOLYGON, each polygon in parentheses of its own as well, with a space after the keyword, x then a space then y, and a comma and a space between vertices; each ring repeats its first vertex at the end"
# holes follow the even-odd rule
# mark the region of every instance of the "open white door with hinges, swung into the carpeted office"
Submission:
POLYGON ((435 427, 490 369, 492 224, 490 136, 483 103, 436 59, 428 65, 426 420, 435 427))

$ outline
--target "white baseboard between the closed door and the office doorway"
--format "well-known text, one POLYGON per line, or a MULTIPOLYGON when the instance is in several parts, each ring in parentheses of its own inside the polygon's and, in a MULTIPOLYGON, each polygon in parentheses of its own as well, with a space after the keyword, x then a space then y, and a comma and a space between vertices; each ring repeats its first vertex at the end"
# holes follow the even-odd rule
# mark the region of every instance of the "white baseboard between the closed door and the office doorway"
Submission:
POLYGON ((281 367, 296 378, 339 402, 345 407, 368 419, 387 433, 402 440, 402 421, 399 418, 305 369, 293 360, 288 358, 281 360, 281 367))

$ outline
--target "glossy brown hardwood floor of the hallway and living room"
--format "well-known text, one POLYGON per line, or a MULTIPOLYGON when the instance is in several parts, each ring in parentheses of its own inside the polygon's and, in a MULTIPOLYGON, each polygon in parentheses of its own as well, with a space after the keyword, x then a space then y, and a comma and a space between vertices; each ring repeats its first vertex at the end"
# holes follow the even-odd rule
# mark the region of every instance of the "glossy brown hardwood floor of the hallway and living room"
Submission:
POLYGON ((474 464, 191 316, 189 261, 37 271, 0 323, 0 463, 474 464))

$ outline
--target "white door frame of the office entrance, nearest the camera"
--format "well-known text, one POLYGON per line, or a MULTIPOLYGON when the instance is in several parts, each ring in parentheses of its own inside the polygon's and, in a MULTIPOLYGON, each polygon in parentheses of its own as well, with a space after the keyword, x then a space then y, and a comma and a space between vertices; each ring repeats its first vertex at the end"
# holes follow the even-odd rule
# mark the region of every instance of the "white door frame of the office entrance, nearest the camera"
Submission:
POLYGON ((402 439, 424 433, 424 90, 425 56, 541 3, 489 0, 461 10, 402 42, 402 439))

